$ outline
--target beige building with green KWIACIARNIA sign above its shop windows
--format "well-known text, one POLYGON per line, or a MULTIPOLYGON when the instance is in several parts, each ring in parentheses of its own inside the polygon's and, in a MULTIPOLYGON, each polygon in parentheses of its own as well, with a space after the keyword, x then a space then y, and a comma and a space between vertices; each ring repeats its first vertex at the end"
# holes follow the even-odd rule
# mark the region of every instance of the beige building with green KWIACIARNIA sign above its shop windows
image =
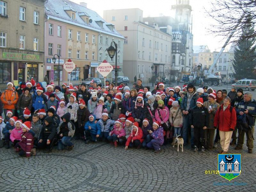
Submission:
POLYGON ((43 81, 45 0, 0 2, 0 87, 43 81))

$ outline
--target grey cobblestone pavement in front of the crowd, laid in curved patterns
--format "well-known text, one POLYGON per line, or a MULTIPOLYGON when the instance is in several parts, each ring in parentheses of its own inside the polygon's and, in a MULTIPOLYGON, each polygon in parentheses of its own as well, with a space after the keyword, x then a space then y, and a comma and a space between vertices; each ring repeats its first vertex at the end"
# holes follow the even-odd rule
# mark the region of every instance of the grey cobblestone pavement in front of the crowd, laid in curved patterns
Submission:
MULTIPOLYGON (((255 138, 255 134, 254 134, 255 138)), ((246 139, 245 139, 246 140, 246 139)), ((217 170, 217 149, 184 152, 177 147, 163 146, 160 154, 151 150, 115 148, 105 142, 74 141, 72 151, 50 154, 37 151, 30 159, 18 157, 13 149, 0 149, 0 191, 14 192, 163 192, 163 191, 255 191, 256 150, 230 153, 242 154, 241 175, 231 181, 219 175, 206 175, 217 170)))

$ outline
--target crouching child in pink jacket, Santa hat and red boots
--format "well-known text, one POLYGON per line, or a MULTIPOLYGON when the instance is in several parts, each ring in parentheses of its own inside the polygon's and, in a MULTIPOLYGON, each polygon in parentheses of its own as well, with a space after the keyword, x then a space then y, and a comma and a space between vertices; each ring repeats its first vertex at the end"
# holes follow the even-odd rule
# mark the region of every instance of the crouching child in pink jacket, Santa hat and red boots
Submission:
POLYGON ((117 147, 117 141, 120 142, 120 138, 125 136, 125 130, 122 127, 122 122, 120 120, 115 121, 115 126, 108 136, 108 140, 114 142, 115 147, 117 147))

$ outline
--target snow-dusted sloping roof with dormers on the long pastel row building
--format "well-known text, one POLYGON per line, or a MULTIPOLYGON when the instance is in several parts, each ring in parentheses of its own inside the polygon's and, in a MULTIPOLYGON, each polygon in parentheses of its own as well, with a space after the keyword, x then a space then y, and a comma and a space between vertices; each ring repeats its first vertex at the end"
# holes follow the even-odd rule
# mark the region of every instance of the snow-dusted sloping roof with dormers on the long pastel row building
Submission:
POLYGON ((45 3, 45 14, 48 18, 60 21, 63 23, 68 23, 85 29, 102 32, 108 35, 116 36, 118 38, 124 37, 118 33, 116 30, 111 31, 106 24, 108 24, 103 18, 101 18, 95 11, 92 11, 88 8, 85 8, 81 5, 78 5, 72 1, 68 0, 48 0, 45 3), (75 20, 72 20, 66 11, 75 12, 75 20), (89 16, 92 19, 92 22, 86 24, 80 16, 89 16), (101 20, 103 28, 96 23, 96 21, 101 20))

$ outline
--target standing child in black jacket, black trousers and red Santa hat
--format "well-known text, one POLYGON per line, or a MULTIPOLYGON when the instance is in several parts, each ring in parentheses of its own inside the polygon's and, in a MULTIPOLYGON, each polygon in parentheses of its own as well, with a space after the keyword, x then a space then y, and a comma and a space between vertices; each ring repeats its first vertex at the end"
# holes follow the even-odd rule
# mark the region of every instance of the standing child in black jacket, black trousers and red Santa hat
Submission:
POLYGON ((203 106, 203 98, 197 99, 197 106, 195 106, 189 114, 189 123, 191 129, 194 129, 194 151, 198 151, 201 148, 201 152, 204 152, 205 147, 205 129, 209 125, 209 112, 203 106))

